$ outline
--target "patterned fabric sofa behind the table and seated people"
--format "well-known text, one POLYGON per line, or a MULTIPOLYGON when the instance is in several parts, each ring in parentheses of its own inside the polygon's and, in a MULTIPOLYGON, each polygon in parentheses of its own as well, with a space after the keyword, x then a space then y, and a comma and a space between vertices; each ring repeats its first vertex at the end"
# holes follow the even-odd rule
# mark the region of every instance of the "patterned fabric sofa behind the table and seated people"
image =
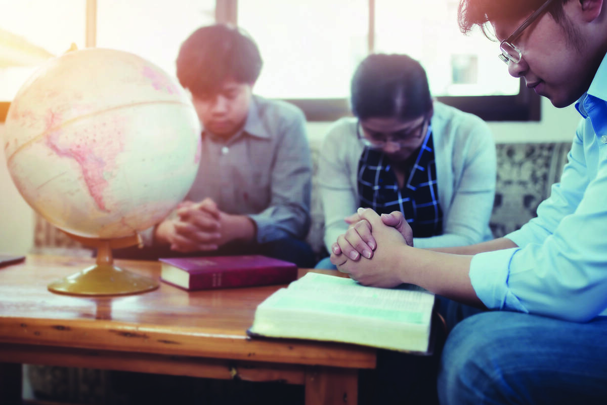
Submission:
MULTIPOLYGON (((322 242, 324 217, 317 187, 317 157, 322 140, 311 140, 314 162, 311 196, 312 223, 307 240, 317 259, 324 256, 322 242)), ((558 182, 571 143, 498 143, 497 187, 490 227, 493 236, 501 237, 517 230, 535 216, 539 203, 550 195, 552 183, 558 182)), ((36 219, 32 253, 90 256, 91 251, 42 217, 36 219)), ((117 403, 117 393, 109 373, 99 370, 65 367, 29 366, 29 383, 37 398, 80 403, 117 403)), ((118 401, 120 402, 120 401, 118 401)))

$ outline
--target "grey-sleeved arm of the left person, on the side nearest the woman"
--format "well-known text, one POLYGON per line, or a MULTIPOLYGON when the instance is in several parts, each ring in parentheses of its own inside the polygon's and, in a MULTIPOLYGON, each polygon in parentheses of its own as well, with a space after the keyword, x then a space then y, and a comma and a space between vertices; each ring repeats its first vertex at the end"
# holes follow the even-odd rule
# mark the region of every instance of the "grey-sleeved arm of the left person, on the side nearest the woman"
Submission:
MULTIPOLYGON (((310 228, 312 164, 305 117, 298 111, 293 120, 282 125, 271 172, 270 204, 248 216, 256 225, 260 243, 283 237, 303 239, 310 228)), ((271 159, 268 153, 268 165, 271 159)))

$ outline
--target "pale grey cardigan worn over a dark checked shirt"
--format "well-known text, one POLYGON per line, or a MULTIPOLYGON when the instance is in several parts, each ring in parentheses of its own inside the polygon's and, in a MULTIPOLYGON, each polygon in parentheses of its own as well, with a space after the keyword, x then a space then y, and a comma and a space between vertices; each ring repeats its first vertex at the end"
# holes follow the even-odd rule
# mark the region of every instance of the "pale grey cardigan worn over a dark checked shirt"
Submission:
MULTIPOLYGON (((432 136, 443 234, 414 238, 419 248, 463 246, 492 239, 489 217, 495 196, 493 135, 475 115, 434 102, 432 136)), ((364 146, 356 136, 356 118, 341 118, 320 149, 319 186, 325 214, 324 242, 330 251, 348 225, 344 217, 359 206, 358 163, 364 146)))

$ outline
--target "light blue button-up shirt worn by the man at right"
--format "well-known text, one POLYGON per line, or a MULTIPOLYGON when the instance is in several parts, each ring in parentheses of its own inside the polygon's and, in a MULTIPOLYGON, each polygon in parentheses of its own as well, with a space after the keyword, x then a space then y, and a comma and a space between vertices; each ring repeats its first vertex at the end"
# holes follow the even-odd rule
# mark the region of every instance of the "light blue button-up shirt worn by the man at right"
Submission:
POLYGON ((607 315, 607 55, 575 104, 582 120, 560 183, 537 217, 476 254, 470 280, 489 308, 585 322, 607 315))

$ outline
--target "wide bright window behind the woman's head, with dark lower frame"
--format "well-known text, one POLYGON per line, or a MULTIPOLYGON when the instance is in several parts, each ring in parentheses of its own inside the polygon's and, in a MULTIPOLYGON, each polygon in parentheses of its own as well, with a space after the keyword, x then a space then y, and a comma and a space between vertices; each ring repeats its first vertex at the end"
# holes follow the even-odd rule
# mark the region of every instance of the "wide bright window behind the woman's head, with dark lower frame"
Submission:
MULTIPOLYGON (((234 1, 234 0, 232 0, 234 1)), ((407 53, 432 94, 486 120, 539 120, 539 100, 504 69, 497 43, 457 26, 458 0, 240 0, 232 22, 260 47, 256 93, 299 105, 310 120, 349 113, 350 78, 371 52, 407 53)))

